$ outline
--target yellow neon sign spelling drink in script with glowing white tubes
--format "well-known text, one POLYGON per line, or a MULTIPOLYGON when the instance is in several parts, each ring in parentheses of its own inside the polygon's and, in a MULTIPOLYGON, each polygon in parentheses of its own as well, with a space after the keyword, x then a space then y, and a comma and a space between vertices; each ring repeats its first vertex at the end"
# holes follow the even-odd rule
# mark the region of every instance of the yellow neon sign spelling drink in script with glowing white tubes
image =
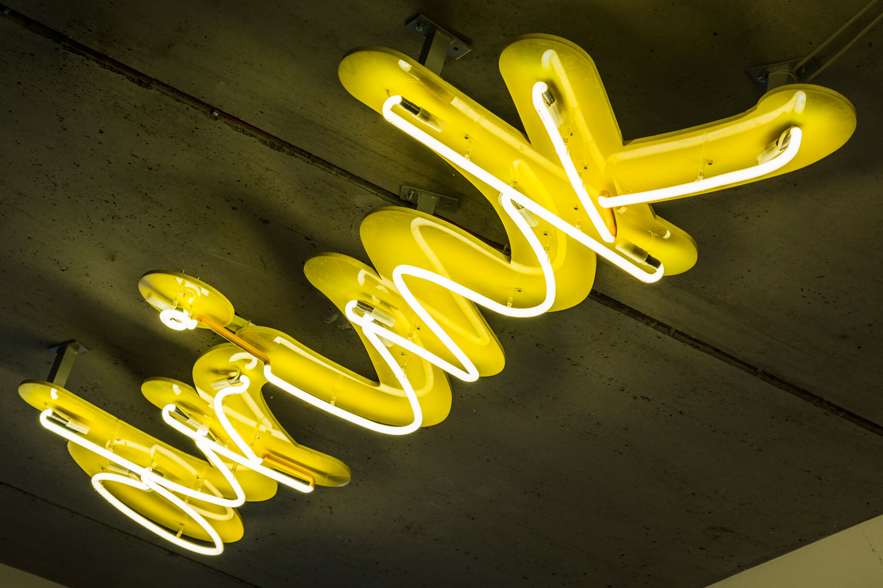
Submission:
POLYGON ((21 384, 42 426, 68 440, 102 497, 179 547, 217 555, 242 536, 236 509, 246 501, 268 499, 279 484, 306 493, 350 480, 342 462, 291 439, 261 396, 265 383, 381 434, 441 422, 449 376, 473 382, 503 368, 502 346, 479 306, 516 317, 568 309, 589 294, 596 257, 647 283, 685 272, 696 261, 695 242, 648 203, 804 167, 855 129, 855 111, 840 94, 791 85, 742 115, 623 143, 581 48, 527 35, 503 51, 500 69, 527 137, 391 49, 358 49, 340 64, 353 96, 487 197, 511 247, 505 256, 431 215, 387 207, 360 227, 374 267, 336 253, 309 259, 307 279, 356 327, 377 381, 250 323, 198 279, 147 272, 140 292, 164 324, 227 340, 200 355, 194 386, 168 378, 142 386, 163 421, 205 459, 51 383, 21 384))

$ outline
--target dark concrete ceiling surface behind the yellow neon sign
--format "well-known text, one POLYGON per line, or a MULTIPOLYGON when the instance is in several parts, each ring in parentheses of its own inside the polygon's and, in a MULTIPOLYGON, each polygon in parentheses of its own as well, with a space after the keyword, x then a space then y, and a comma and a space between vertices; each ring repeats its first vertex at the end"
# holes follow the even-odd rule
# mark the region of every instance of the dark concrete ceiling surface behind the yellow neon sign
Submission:
POLYGON ((337 79, 351 48, 416 56, 404 22, 421 11, 472 41, 442 76, 516 126, 502 48, 522 33, 575 41, 628 139, 751 108, 747 67, 805 55, 863 5, 12 4, 294 147, 0 19, 0 560, 70 586, 703 586, 879 515, 879 27, 816 80, 857 108, 847 145, 789 175, 658 205, 698 242, 690 272, 648 287, 600 264, 575 309, 488 316, 507 368, 454 383, 442 424, 381 437, 271 398, 298 442, 343 459, 353 479, 247 503, 244 539, 219 557, 170 548, 110 508, 16 393, 46 377, 47 346, 77 339, 91 351, 71 391, 191 450, 140 382, 189 381, 219 340, 162 327, 136 288, 153 269, 200 276, 240 314, 370 375, 306 282, 308 257, 366 260, 359 222, 401 184, 460 197, 452 220, 505 241, 471 184, 337 79))

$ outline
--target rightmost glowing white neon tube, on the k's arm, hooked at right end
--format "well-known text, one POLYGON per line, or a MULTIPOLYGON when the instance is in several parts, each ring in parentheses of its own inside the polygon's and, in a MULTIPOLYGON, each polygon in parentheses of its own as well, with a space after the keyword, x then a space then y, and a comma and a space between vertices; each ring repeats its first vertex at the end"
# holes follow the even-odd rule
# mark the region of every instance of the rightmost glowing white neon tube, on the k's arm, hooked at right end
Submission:
POLYGON ((709 178, 702 178, 695 182, 682 183, 676 186, 668 186, 666 188, 658 188, 656 190, 646 190, 645 192, 635 192, 633 194, 620 194, 618 196, 602 196, 598 198, 598 204, 605 208, 614 208, 616 206, 637 205, 645 202, 657 202, 659 200, 668 200, 680 196, 687 196, 702 192, 705 190, 713 190, 721 188, 731 183, 745 182, 753 180, 761 175, 772 174, 777 169, 784 167, 794 159, 797 152, 800 151, 800 141, 803 138, 803 131, 800 127, 791 127, 783 133, 781 142, 787 141, 788 145, 779 145, 779 154, 771 160, 766 160, 753 167, 745 167, 744 169, 736 169, 736 171, 727 172, 726 174, 713 175, 709 178), (784 148, 782 148, 784 147, 784 148))

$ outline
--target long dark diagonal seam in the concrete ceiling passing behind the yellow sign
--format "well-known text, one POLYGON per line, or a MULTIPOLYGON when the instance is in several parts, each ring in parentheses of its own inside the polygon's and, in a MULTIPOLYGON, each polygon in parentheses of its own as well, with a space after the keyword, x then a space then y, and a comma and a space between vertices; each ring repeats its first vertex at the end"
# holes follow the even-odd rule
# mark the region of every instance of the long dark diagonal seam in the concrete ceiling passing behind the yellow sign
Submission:
MULTIPOLYGON (((319 167, 320 169, 328 172, 331 175, 337 175, 338 177, 343 178, 343 180, 351 182, 362 190, 366 190, 367 192, 374 194, 375 196, 380 197, 381 199, 386 200, 394 205, 402 205, 402 201, 395 194, 393 194, 389 190, 381 188, 374 182, 369 182, 366 179, 343 169, 343 167, 338 167, 328 160, 323 160, 321 159, 321 157, 318 157, 313 153, 309 153, 308 151, 306 151, 306 149, 302 149, 297 145, 284 140, 283 138, 276 137, 275 135, 272 135, 265 130, 260 130, 258 127, 246 123, 237 116, 223 112, 223 110, 221 110, 220 108, 215 108, 208 104, 208 102, 200 100, 199 98, 196 98, 189 93, 185 93, 182 90, 178 90, 176 87, 162 82, 162 80, 152 78, 145 73, 142 73, 129 67, 128 65, 125 65, 125 63, 117 62, 111 57, 106 56, 94 50, 93 48, 88 48, 77 41, 73 41, 71 38, 65 36, 62 33, 59 33, 55 29, 49 28, 49 26, 42 25, 34 19, 29 19, 25 15, 6 7, 4 4, 0 4, 0 13, 2 13, 7 19, 11 19, 20 26, 23 26, 24 28, 26 28, 26 30, 46 37, 50 41, 55 41, 74 54, 87 57, 87 59, 94 61, 94 63, 97 63, 102 68, 125 76, 125 78, 128 78, 130 81, 132 81, 132 83, 137 84, 138 86, 147 88, 148 90, 156 90, 160 93, 163 93, 173 100, 177 100, 178 102, 181 102, 186 106, 195 108, 200 112, 205 113, 205 115, 207 115, 210 119, 220 120, 224 123, 227 123, 231 129, 237 130, 238 132, 241 132, 249 137, 257 139, 258 141, 260 141, 261 144, 268 146, 270 149, 274 149, 275 151, 281 153, 287 153, 292 157, 298 158, 298 160, 306 162, 309 165, 319 167), (215 113, 217 113, 217 115, 215 115, 215 113)), ((439 218, 451 222, 452 224, 457 224, 453 223, 450 220, 444 219, 444 217, 442 216, 439 216, 439 218)), ((465 230, 469 231, 469 229, 465 230)), ((476 234, 472 231, 469 231, 469 233, 484 242, 496 246, 498 249, 502 249, 502 247, 500 247, 498 243, 494 243, 493 241, 487 239, 480 234, 476 234)), ((751 363, 747 361, 739 359, 735 355, 728 354, 727 352, 724 352, 721 349, 718 349, 717 347, 714 347, 700 339, 696 339, 691 335, 688 335, 682 331, 678 331, 677 329, 675 329, 675 327, 672 327, 668 324, 660 323, 652 316, 647 316, 644 313, 640 312, 638 309, 633 309, 620 301, 616 301, 613 298, 610 298, 607 294, 601 294, 597 290, 592 290, 592 293, 589 294, 589 298, 592 301, 598 302, 599 304, 602 304, 609 309, 613 309, 616 312, 623 314, 624 316, 629 316, 639 323, 646 324, 647 326, 653 328, 655 331, 659 331, 660 333, 663 333, 671 339, 680 341, 686 346, 691 346, 693 349, 696 349, 704 354, 711 355, 712 357, 717 358, 720 361, 724 361, 725 363, 728 363, 735 368, 741 369, 742 371, 751 374, 751 376, 757 377, 764 382, 769 383, 776 388, 779 388, 782 391, 789 392, 789 394, 793 394, 797 398, 801 398, 806 402, 809 402, 813 406, 817 406, 822 410, 825 410, 829 413, 841 417, 842 419, 850 421, 861 428, 871 431, 872 433, 875 433, 877 435, 883 436, 883 426, 879 425, 878 423, 869 419, 865 419, 863 416, 857 413, 853 413, 852 411, 849 411, 842 406, 836 405, 833 402, 820 397, 818 394, 814 394, 811 391, 805 390, 804 388, 801 388, 796 384, 789 383, 787 380, 779 376, 774 376, 773 374, 770 374, 761 368, 751 365, 751 363)))

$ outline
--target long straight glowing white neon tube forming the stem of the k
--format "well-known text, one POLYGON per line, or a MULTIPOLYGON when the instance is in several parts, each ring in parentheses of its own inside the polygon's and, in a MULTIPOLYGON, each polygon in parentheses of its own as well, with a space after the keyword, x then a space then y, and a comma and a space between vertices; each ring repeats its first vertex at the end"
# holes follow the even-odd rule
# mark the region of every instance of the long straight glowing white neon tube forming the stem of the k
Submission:
MULTIPOLYGON (((408 135, 411 135, 411 137, 417 139, 420 143, 426 145, 446 160, 451 161, 457 167, 462 167, 467 173, 474 175, 482 182, 487 183, 487 185, 493 187, 494 190, 500 190, 501 194, 509 197, 510 200, 517 203, 518 205, 524 206, 527 210, 529 210, 536 216, 539 216, 541 219, 551 223, 556 228, 561 230, 564 234, 568 234, 577 242, 585 245, 585 247, 592 249, 592 251, 594 251, 597 255, 603 257, 604 259, 607 259, 608 262, 614 264, 615 266, 623 270, 623 272, 627 272, 631 276, 640 279, 641 281, 648 284, 653 283, 662 277, 662 274, 664 273, 664 268, 662 265, 656 268, 654 272, 645 272, 641 270, 640 268, 638 268, 638 266, 632 264, 630 260, 617 254, 615 251, 608 249, 608 247, 606 247, 603 243, 592 239, 592 237, 583 233, 582 231, 577 230, 577 227, 573 227, 570 224, 564 222, 555 214, 547 211, 542 206, 533 202, 530 198, 526 197, 518 190, 515 190, 511 186, 507 185, 505 182, 502 182, 502 180, 490 174, 485 169, 475 165, 474 163, 472 163, 471 160, 467 160, 463 155, 455 152, 449 146, 442 144, 442 142, 438 139, 430 137, 423 130, 420 130, 413 124, 408 123, 406 120, 404 120, 403 117, 397 115, 392 110, 392 107, 396 104, 401 103, 401 101, 402 97, 399 95, 395 95, 390 96, 385 102, 383 102, 383 117, 387 121, 389 121, 389 123, 392 123, 398 129, 403 130, 408 135)), ((519 218, 521 217, 520 214, 518 216, 519 218)), ((532 233, 532 231, 530 231, 529 229, 522 230, 525 231, 525 236, 527 236, 527 233, 532 233)))

